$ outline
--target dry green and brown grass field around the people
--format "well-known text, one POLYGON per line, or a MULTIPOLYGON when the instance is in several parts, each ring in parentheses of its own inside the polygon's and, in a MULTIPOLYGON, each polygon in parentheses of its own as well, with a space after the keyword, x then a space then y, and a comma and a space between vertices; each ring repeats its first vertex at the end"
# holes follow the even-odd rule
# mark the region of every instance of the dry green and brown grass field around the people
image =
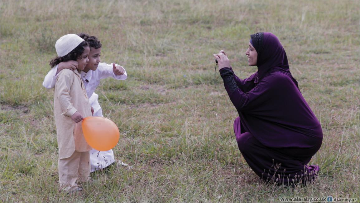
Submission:
POLYGON ((359 1, 0 1, 0 202, 279 202, 282 197, 357 198, 359 181, 359 1), (238 116, 213 53, 235 74, 256 67, 250 34, 273 32, 300 90, 321 122, 310 164, 315 184, 264 184, 240 154, 238 116), (42 87, 68 33, 98 36, 102 62, 125 81, 96 89, 120 129, 120 165, 93 176, 77 195, 58 193, 53 89, 42 87))

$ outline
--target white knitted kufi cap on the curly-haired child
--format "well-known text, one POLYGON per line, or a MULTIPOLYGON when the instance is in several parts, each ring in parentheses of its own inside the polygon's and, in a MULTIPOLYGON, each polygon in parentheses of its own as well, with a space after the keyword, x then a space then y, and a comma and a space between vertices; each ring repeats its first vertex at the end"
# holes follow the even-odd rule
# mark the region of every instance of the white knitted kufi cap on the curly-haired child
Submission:
POLYGON ((67 34, 55 43, 56 53, 59 57, 63 57, 66 54, 70 53, 73 49, 75 49, 79 44, 84 41, 81 37, 75 34, 67 34))

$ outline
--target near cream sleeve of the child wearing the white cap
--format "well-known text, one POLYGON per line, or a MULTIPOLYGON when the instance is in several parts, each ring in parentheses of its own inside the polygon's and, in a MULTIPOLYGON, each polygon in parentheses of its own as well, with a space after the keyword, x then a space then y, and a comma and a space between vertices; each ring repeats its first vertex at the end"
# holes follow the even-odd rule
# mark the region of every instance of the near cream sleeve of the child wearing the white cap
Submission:
POLYGON ((68 71, 62 71, 58 74, 55 83, 55 96, 58 98, 62 110, 61 115, 72 116, 77 109, 71 103, 70 89, 74 81, 74 74, 68 71), (70 74, 69 74, 70 73, 70 74))

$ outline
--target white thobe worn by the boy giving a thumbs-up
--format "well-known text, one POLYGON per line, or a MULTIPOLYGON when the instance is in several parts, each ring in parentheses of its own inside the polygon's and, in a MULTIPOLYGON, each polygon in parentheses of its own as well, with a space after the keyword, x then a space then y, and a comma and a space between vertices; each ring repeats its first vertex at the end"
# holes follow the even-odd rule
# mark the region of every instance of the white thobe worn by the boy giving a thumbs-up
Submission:
MULTIPOLYGON (((51 89, 55 87, 58 71, 58 66, 55 66, 51 69, 48 74, 45 76, 44 82, 42 85, 51 89)), ((100 79, 112 77, 117 80, 125 80, 127 78, 127 73, 123 75, 115 75, 113 73, 112 64, 99 63, 98 68, 95 71, 89 70, 88 72, 81 71, 81 79, 84 82, 87 96, 89 97, 90 105, 94 108, 94 116, 103 117, 103 112, 98 102, 98 94, 94 91, 96 87, 100 84, 100 79)), ((114 153, 112 150, 108 151, 98 151, 90 150, 90 163, 91 163, 91 172, 105 168, 115 162, 114 153)))

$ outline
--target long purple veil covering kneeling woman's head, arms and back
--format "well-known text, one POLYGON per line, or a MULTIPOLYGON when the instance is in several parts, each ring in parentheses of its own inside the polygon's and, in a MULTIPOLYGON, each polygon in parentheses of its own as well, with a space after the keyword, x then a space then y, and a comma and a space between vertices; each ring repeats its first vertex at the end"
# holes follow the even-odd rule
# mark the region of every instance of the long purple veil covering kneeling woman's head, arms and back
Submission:
POLYGON ((263 145, 275 148, 321 145, 320 122, 291 75, 279 39, 264 32, 251 35, 251 42, 258 53, 258 71, 244 80, 233 74, 235 90, 224 82, 240 117, 234 123, 235 135, 249 132, 263 145))

